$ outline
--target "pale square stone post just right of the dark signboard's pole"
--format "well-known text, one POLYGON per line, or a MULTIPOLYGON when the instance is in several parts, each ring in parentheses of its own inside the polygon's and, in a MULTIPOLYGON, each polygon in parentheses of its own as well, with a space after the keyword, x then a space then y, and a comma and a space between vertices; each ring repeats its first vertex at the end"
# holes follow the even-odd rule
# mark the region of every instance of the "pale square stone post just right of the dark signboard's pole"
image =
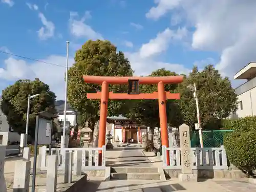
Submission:
POLYGON ((56 192, 58 157, 56 155, 48 156, 47 163, 48 165, 47 165, 46 191, 56 192))

